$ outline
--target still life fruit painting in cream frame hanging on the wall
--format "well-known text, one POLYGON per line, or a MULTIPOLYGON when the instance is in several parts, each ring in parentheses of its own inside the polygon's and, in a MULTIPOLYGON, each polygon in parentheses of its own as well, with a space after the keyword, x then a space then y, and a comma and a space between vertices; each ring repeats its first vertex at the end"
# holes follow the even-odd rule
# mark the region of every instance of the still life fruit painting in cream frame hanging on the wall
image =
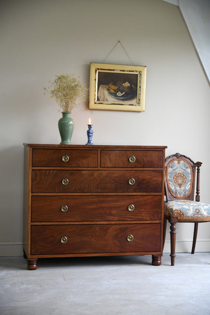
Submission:
POLYGON ((144 112, 146 67, 90 63, 89 109, 144 112))

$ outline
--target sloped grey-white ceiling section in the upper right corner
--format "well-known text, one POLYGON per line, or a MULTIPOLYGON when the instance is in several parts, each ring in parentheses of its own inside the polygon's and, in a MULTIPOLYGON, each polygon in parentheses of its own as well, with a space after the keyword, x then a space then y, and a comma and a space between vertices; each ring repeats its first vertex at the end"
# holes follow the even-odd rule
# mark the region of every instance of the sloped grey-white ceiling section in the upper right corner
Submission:
POLYGON ((180 8, 210 83, 210 0, 163 0, 180 8))

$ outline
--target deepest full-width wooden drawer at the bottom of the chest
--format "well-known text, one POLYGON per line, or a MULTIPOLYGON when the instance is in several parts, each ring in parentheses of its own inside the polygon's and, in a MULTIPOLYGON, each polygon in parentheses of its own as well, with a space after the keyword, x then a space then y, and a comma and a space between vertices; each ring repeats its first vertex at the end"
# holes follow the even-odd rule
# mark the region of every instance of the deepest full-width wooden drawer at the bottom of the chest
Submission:
POLYGON ((161 224, 31 227, 31 255, 134 253, 161 249, 161 224))

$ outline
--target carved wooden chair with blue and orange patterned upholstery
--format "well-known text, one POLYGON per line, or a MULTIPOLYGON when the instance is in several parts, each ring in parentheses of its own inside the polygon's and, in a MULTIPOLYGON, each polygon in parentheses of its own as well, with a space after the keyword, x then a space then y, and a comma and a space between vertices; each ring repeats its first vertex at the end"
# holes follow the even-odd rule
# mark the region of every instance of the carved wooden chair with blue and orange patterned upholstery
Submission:
POLYGON ((164 206, 164 243, 168 220, 171 224, 171 266, 174 266, 176 257, 176 223, 194 223, 191 251, 191 253, 194 254, 198 223, 210 221, 210 204, 199 202, 201 164, 201 162, 194 163, 190 158, 180 153, 170 155, 166 159, 165 189, 167 202, 164 206), (194 201, 195 177, 197 179, 194 201))

